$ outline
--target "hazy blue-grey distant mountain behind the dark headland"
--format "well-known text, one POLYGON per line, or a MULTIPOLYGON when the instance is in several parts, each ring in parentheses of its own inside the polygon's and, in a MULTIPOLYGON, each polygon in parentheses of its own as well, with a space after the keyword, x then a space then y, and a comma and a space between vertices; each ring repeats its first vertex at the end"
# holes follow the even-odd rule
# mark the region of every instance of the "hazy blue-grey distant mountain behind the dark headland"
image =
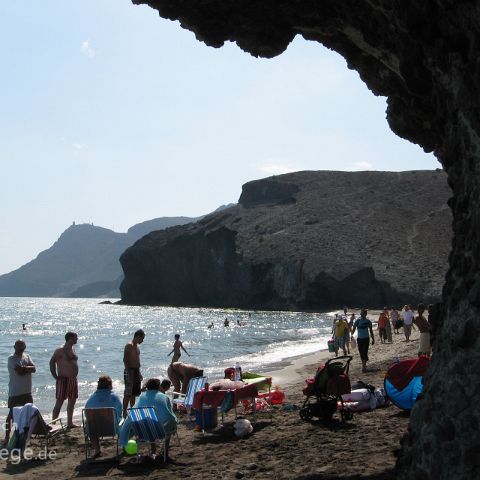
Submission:
POLYGON ((130 227, 127 233, 73 224, 37 258, 1 275, 0 296, 119 297, 123 278, 119 257, 126 248, 147 233, 200 218, 155 218, 130 227))

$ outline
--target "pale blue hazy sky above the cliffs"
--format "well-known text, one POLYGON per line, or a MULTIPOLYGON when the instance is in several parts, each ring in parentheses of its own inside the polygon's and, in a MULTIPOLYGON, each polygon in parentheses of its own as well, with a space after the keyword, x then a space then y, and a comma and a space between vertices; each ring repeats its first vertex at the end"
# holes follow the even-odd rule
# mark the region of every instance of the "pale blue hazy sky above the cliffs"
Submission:
POLYGON ((298 170, 435 169, 338 54, 214 49, 130 0, 0 2, 0 274, 73 221, 117 232, 298 170))

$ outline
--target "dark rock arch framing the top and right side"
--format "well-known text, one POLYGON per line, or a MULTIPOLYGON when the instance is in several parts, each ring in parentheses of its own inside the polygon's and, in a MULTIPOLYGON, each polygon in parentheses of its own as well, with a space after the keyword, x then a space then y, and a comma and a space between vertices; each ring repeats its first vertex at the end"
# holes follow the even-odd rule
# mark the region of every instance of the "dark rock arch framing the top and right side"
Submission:
POLYGON ((477 0, 132 0, 213 47, 282 53, 296 35, 340 53, 388 97, 399 136, 448 174, 454 240, 424 399, 412 412, 402 479, 480 477, 480 2, 477 0))

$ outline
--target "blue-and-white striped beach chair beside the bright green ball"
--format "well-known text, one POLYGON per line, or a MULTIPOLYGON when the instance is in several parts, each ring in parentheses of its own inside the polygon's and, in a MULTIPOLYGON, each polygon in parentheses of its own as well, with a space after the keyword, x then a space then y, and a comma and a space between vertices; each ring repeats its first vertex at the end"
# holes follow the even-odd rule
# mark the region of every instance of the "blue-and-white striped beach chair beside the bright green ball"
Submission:
MULTIPOLYGON (((154 407, 132 407, 128 409, 131 427, 138 443, 163 441, 163 461, 168 458, 168 437, 165 428, 157 417, 154 407)), ((175 433, 175 432, 169 432, 175 433)))

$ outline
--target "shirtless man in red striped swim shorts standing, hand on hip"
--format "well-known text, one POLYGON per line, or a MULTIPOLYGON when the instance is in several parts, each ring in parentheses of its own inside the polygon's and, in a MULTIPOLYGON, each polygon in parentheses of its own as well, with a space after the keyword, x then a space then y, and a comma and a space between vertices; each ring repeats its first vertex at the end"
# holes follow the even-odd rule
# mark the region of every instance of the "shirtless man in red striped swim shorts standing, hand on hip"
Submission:
POLYGON ((52 419, 58 418, 63 402, 67 400, 67 426, 75 428, 73 409, 78 397, 78 356, 73 349, 78 336, 75 332, 65 334, 65 344, 57 348, 50 359, 50 372, 56 380, 56 399, 52 419))

